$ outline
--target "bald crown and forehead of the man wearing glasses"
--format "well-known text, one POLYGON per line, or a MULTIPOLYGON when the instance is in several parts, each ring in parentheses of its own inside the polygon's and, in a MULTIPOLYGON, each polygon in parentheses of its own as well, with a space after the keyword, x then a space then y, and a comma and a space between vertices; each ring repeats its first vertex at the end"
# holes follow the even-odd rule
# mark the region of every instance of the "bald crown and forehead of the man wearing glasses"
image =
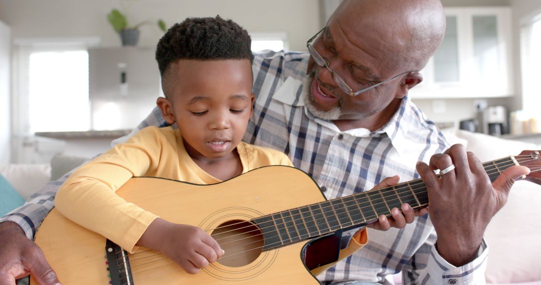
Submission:
POLYGON ((421 70, 445 35, 440 0, 344 0, 329 19, 394 69, 421 70), (348 26, 348 27, 346 27, 348 26))

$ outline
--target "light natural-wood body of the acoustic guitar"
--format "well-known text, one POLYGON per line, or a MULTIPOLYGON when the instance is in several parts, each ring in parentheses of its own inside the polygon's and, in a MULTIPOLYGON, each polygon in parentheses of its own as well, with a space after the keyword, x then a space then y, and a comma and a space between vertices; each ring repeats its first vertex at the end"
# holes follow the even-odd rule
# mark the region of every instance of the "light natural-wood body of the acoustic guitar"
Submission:
MULTIPOLYGON (((249 221, 326 200, 308 175, 285 166, 258 168, 214 185, 132 178, 117 194, 163 219, 197 226, 209 234, 224 223, 249 221)), ((109 283, 105 238, 68 220, 56 209, 52 209, 39 227, 35 242, 63 284, 109 283)), ((247 256, 242 250, 227 256, 230 250, 221 245, 226 251, 223 261, 214 262, 195 275, 185 273, 167 257, 145 248, 129 254, 129 260, 133 283, 137 285, 318 284, 304 261, 311 242, 301 241, 265 251, 245 249, 247 256)), ((31 284, 37 282, 31 279, 31 284)))

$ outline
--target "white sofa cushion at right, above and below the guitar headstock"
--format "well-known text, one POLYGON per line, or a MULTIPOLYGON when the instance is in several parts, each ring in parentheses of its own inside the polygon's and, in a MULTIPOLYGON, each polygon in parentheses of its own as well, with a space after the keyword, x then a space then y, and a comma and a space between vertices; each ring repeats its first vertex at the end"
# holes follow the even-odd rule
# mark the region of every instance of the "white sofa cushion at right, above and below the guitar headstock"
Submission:
MULTIPOLYGON (((487 134, 463 130, 447 131, 467 140, 467 151, 482 161, 508 155, 518 155, 524 150, 539 150, 530 142, 502 139, 487 134)), ((527 181, 517 181, 511 188, 506 205, 492 218, 485 232, 489 245, 486 280, 489 283, 514 283, 541 280, 541 186, 527 181)))

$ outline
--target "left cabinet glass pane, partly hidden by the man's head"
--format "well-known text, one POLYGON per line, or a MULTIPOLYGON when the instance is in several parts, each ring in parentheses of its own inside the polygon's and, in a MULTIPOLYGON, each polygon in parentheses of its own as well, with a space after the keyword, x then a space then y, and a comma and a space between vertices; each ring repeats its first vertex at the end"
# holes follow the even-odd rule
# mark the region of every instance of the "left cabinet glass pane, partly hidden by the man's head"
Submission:
POLYGON ((436 82, 458 81, 458 34, 457 17, 446 16, 445 37, 434 54, 434 80, 436 82))

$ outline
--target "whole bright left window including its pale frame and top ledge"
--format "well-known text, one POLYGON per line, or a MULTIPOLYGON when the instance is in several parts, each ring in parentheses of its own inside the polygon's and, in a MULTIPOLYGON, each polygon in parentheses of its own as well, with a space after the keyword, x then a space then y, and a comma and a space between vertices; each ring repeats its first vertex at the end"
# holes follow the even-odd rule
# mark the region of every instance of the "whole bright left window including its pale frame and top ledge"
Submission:
POLYGON ((15 135, 89 130, 87 47, 98 42, 15 39, 15 135))

